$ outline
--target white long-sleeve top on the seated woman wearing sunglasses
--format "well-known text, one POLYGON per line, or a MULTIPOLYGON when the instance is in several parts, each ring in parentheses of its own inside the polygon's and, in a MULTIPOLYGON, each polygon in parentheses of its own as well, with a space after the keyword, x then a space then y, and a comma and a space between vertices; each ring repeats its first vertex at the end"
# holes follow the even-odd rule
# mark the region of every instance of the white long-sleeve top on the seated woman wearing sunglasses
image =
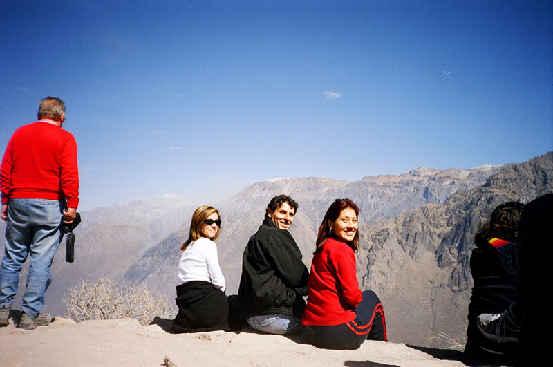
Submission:
POLYGON ((191 242, 180 256, 178 279, 180 284, 189 281, 208 281, 225 292, 225 276, 219 266, 217 245, 205 237, 191 242))

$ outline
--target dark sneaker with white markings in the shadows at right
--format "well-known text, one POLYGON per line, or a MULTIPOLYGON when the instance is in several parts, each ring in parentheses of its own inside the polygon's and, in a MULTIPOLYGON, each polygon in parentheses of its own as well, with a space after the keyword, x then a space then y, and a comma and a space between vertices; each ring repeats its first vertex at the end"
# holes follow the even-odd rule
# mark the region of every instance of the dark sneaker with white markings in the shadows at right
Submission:
POLYGON ((521 328, 514 323, 507 310, 503 311, 503 314, 481 314, 476 319, 476 323, 482 335, 491 341, 518 343, 521 328))

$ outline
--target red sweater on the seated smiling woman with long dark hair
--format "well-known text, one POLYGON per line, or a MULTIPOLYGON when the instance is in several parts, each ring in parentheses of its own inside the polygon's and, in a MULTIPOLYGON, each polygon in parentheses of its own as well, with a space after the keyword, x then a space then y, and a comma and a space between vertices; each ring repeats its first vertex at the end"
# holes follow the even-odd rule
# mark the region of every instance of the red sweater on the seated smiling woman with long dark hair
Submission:
POLYGON ((361 302, 362 295, 353 248, 328 238, 322 250, 313 256, 308 288, 303 325, 341 325, 355 319, 353 310, 361 302))

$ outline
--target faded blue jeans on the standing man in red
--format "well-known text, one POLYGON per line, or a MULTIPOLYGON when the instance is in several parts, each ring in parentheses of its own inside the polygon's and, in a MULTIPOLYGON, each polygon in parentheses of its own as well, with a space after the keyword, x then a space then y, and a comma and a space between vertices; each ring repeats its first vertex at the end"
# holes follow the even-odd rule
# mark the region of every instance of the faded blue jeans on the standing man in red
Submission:
POLYGON ((30 256, 21 311, 36 316, 44 305, 44 292, 52 281, 50 265, 62 239, 64 201, 10 199, 5 250, 0 267, 0 308, 11 307, 17 294, 21 266, 30 256), (30 254, 29 254, 30 253, 30 254))

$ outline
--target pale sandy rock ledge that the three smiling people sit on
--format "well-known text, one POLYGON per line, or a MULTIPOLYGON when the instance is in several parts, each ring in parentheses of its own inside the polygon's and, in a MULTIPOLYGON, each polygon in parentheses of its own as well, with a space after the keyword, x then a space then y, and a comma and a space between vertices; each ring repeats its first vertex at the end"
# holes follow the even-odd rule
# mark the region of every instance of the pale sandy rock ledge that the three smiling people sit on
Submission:
MULTIPOLYGON (((17 315, 14 317, 17 322, 17 315)), ((323 350, 297 337, 234 332, 171 334, 170 321, 55 318, 35 330, 0 328, 0 366, 464 366, 460 352, 366 341, 323 350)))

